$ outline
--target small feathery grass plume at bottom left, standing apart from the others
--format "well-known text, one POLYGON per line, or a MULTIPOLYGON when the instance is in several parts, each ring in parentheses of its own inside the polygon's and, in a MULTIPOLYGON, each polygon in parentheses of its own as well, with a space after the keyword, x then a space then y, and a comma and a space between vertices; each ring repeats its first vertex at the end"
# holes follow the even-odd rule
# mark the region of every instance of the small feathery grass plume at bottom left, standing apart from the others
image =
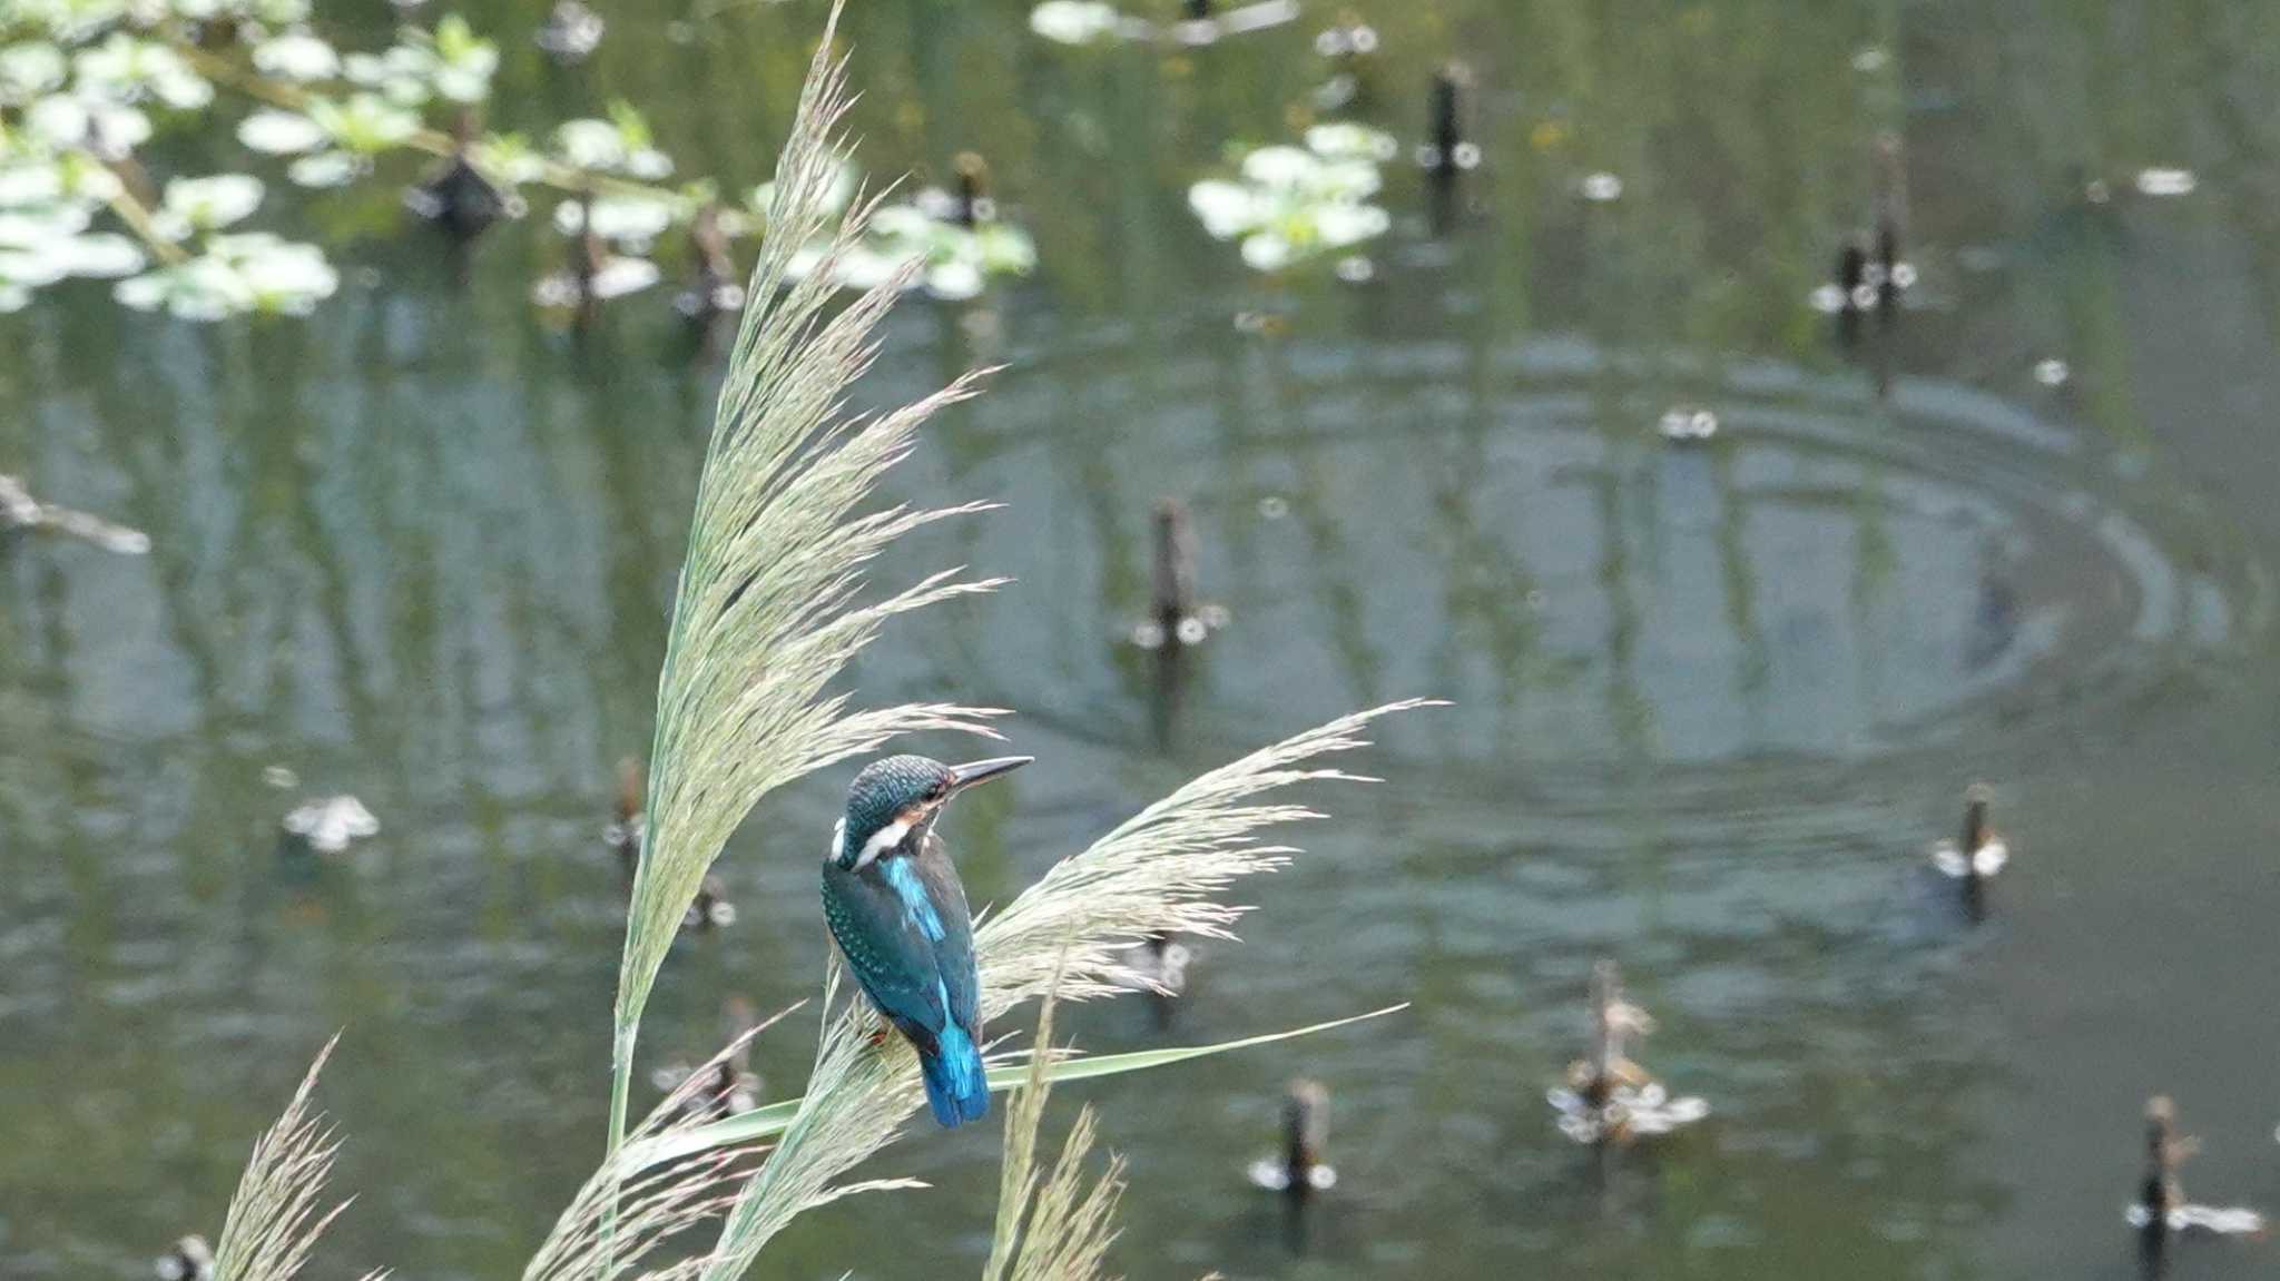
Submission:
MULTIPOLYGON (((324 1042, 292 1103, 285 1103, 278 1121, 253 1142, 246 1174, 237 1181, 230 1213, 221 1222, 214 1281, 290 1281, 308 1263, 308 1251, 324 1229, 349 1208, 349 1201, 342 1201, 319 1210, 340 1142, 324 1124, 324 1115, 308 1110, 317 1074, 324 1071, 324 1060, 333 1058, 335 1044, 340 1035, 324 1042)), ((381 1272, 372 1272, 365 1281, 378 1276, 381 1272)))

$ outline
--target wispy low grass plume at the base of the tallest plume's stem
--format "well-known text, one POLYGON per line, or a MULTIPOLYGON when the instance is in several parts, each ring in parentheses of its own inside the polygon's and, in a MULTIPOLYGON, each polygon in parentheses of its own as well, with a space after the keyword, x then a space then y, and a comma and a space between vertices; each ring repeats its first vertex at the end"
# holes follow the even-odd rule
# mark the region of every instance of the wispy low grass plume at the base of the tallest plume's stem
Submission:
MULTIPOLYGON (((636 1142, 659 1140, 705 1124, 709 1110, 700 1105, 700 1094, 714 1090, 720 1064, 803 1005, 807 1003, 800 1001, 732 1039, 727 1049, 666 1094, 632 1137, 636 1142)), ((752 1176, 766 1151, 766 1144, 757 1142, 718 1147, 661 1162, 632 1178, 620 1178, 604 1165, 579 1188, 570 1208, 554 1219, 554 1231, 522 1270, 522 1281, 613 1281, 618 1276, 679 1281, 693 1276, 702 1260, 691 1258, 654 1272, 638 1272, 638 1267, 679 1233, 720 1217, 734 1204, 734 1190, 752 1176)))

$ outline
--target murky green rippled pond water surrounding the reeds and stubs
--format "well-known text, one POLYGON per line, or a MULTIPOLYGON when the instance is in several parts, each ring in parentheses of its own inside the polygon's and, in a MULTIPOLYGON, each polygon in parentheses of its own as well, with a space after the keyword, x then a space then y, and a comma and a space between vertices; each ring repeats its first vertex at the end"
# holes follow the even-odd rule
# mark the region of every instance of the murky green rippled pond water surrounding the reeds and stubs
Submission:
MULTIPOLYGON (((684 171, 764 178, 819 5, 691 39, 679 0, 602 9, 575 71, 524 41, 543 5, 470 9, 502 123, 625 96, 684 171)), ((1115 1051, 1414 1003, 1085 1087, 1133 1167, 1117 1270, 2125 1276, 2157 1090, 2205 1140, 2196 1199, 2280 1208, 2280 9, 1359 2, 1359 119, 1423 141, 1461 55, 1484 153, 1448 219, 1389 169, 1361 285, 1247 276, 1186 207, 1227 141, 1293 132, 1325 7, 1188 52, 1049 46, 1015 2, 853 9, 871 171, 980 150, 1040 246, 987 305, 912 299, 862 387, 1005 362, 889 488, 1008 508, 880 581, 1019 581, 855 670, 873 702, 1021 711, 1037 764, 946 830, 971 898, 1249 745, 1457 704, 1386 725, 1382 786, 1313 795, 1336 821, 1245 887, 1245 944, 1204 950, 1170 1028, 1074 1019, 1115 1051), (1808 299, 1870 219, 1879 130, 1922 283, 1847 353, 1808 299), (2143 166, 2198 189, 2139 196, 2143 166), (1578 198, 1594 171, 1621 198, 1578 198), (1719 435, 1664 444, 1680 403, 1719 435), (1126 643, 1163 495, 1229 611, 1170 691, 1126 643), (1970 928, 1920 850, 1979 777, 2018 857, 1970 928), (1598 955, 1660 1021, 1642 1058, 1712 1103, 1607 1162, 1544 1103, 1598 955), (1341 1183, 1293 1226, 1243 1167, 1300 1071, 1341 1183)), ((0 317, 0 470, 155 542, 0 554, 0 1276, 141 1276, 212 1235, 337 1028, 358 1204, 312 1276, 520 1274, 597 1156, 600 827, 650 739, 718 369, 666 289, 584 340, 540 319, 538 219, 461 283, 392 191, 296 217, 347 276, 310 321, 180 326, 98 287, 0 317), (280 857, 278 818, 335 791, 381 834, 280 857)), ((645 1067, 709 1053, 727 994, 816 989, 846 775, 730 843, 741 919, 677 946, 645 1067)), ((762 1042, 773 1096, 812 1033, 762 1042)), ((930 1192, 816 1213, 759 1274, 974 1274, 996 1153, 996 1124, 917 1133, 873 1172, 930 1192)), ((2271 1263, 2191 1240, 2175 1274, 2271 1263)))

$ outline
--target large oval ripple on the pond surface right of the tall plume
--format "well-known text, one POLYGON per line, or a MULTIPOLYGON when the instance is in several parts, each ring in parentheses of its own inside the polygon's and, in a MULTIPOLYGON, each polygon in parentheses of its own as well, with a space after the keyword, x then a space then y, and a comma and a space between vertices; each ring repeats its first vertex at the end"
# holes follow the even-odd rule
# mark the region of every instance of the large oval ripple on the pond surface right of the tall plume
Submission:
POLYGON ((1455 707, 1382 739, 1466 791, 1710 800, 2020 745, 2264 613, 2143 460, 1940 381, 1879 399, 1557 340, 1099 342, 1017 360, 962 431, 990 474, 958 490, 1024 513, 960 556, 1067 618, 978 636, 980 695, 1197 759, 1432 693, 1455 707), (1717 438, 1662 440, 1674 403, 1717 438), (1204 597, 1231 611, 1174 697, 1117 622, 1145 609, 1158 495, 1190 501, 1204 597))

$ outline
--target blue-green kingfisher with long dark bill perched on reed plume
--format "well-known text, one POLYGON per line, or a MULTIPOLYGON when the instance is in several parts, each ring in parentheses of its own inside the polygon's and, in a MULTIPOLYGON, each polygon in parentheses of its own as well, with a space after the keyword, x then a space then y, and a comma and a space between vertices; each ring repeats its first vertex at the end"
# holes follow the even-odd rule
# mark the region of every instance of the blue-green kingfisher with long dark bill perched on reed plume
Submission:
POLYGON ((864 996, 919 1051, 926 1103, 944 1128, 990 1110, 990 1078, 974 916, 935 818, 960 791, 1031 759, 871 761, 848 784, 848 809, 823 855, 823 919, 864 996))

